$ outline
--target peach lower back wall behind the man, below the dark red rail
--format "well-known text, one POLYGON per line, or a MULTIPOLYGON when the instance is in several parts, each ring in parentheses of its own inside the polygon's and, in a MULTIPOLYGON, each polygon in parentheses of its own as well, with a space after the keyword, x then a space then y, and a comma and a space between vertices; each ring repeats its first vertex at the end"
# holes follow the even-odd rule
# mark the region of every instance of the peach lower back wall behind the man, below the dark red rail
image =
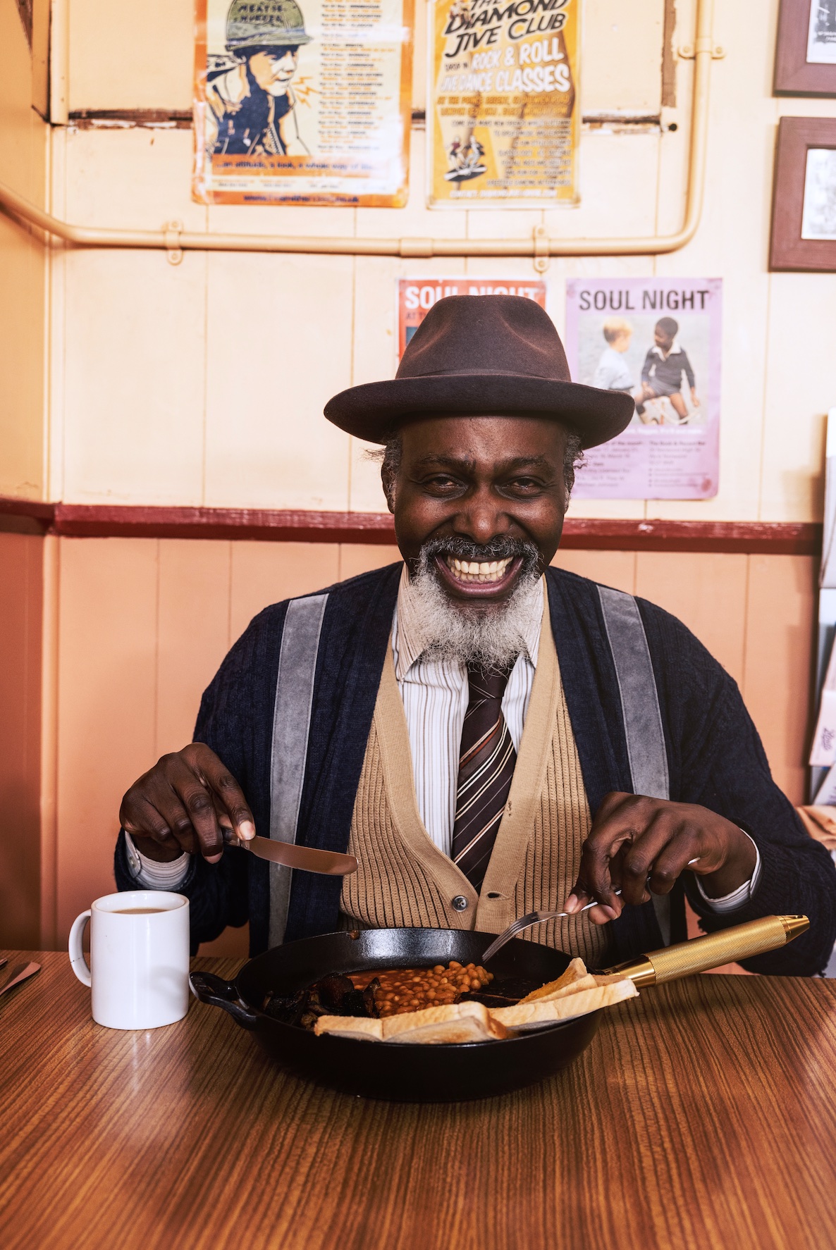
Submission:
MULTIPOLYGON (((124 790, 164 751, 190 741, 202 689, 255 612, 397 552, 155 539, 59 546, 60 942, 76 912, 112 888, 124 790)), ((567 551, 557 562, 680 615, 740 682, 779 784, 801 799, 806 712, 797 692, 809 684, 811 560, 567 551)))

